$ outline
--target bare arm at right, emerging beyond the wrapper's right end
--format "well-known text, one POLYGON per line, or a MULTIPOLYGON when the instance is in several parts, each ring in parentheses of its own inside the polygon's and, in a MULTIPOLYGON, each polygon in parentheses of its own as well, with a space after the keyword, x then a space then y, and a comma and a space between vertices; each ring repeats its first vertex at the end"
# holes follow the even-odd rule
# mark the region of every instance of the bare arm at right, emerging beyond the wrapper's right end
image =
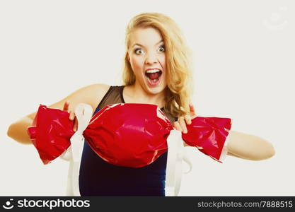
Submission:
POLYGON ((246 160, 265 160, 275 153, 272 143, 258 136, 232 130, 229 136, 228 155, 246 160))

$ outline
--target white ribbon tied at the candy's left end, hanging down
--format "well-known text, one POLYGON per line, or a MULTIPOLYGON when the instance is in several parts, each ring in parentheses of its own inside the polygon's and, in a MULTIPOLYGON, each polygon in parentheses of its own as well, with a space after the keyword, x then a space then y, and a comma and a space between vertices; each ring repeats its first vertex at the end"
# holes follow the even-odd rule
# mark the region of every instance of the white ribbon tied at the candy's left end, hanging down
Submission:
POLYGON ((86 104, 79 104, 75 114, 78 120, 78 129, 71 136, 71 146, 61 155, 64 160, 69 160, 68 182, 66 185, 66 196, 81 196, 79 191, 79 170, 83 149, 83 131, 87 128, 91 117, 92 107, 86 104))

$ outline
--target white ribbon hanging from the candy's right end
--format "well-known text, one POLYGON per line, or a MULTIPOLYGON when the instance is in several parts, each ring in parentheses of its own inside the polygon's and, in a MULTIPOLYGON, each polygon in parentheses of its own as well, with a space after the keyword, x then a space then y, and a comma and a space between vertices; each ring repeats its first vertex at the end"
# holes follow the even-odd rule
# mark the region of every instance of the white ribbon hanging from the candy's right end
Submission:
POLYGON ((166 167, 165 196, 178 196, 180 191, 181 177, 183 175, 183 160, 192 170, 192 163, 184 152, 181 131, 171 130, 167 139, 168 156, 166 167))

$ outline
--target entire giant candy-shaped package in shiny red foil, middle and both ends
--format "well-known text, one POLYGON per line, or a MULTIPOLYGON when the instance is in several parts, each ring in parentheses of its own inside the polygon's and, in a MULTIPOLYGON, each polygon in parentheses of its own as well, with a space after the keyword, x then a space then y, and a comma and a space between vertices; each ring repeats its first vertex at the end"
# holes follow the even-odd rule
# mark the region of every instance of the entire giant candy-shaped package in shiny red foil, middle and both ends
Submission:
MULTIPOLYGON (((73 126, 68 112, 40 105, 28 134, 44 164, 69 148, 73 126)), ((143 167, 168 150, 167 138, 172 129, 169 119, 156 105, 122 103, 98 111, 83 136, 106 162, 143 167)), ((187 145, 219 160, 229 129, 229 118, 195 117, 182 136, 187 145)))

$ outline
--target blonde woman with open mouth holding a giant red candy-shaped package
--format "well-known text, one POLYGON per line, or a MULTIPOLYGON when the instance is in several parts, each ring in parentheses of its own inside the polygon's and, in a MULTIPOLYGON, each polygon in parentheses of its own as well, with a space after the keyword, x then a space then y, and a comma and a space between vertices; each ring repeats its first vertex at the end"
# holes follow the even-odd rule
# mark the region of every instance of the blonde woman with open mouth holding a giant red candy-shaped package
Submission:
MULTIPOLYGON (((125 39, 124 86, 95 84, 81 88, 50 105, 70 113, 83 102, 98 112, 106 105, 128 102, 158 105, 175 129, 187 132, 186 125, 196 117, 190 105, 192 77, 189 51, 178 26, 161 13, 141 13, 127 26, 125 39)), ((31 143, 26 132, 36 113, 9 126, 8 136, 20 143, 31 143)), ((231 131, 228 154, 248 160, 274 155, 272 145, 257 136, 231 131)), ((102 160, 84 143, 79 175, 82 196, 165 195, 167 153, 141 168, 119 167, 102 160)))

